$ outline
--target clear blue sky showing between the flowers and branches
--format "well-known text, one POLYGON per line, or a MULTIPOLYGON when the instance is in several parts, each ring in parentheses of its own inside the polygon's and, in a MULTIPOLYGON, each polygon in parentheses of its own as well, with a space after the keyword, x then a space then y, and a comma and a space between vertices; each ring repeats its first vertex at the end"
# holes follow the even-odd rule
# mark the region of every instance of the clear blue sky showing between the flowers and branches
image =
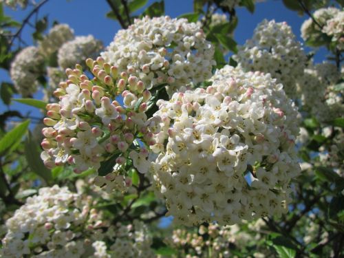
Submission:
MULTIPOLYGON (((150 0, 150 3, 154 1, 150 0)), ((103 41, 104 45, 109 43, 114 38, 116 32, 120 29, 119 24, 111 19, 107 19, 105 14, 110 10, 105 0, 50 0, 41 8, 39 15, 43 17, 48 14, 50 25, 53 21, 59 23, 68 23, 74 29, 76 35, 92 34, 96 39, 103 41)), ((178 17, 180 14, 186 12, 193 12, 192 0, 165 0, 165 12, 171 17, 178 17)), ((13 11, 5 8, 5 13, 14 17, 17 21, 22 21, 28 14, 28 10, 13 11)), ((277 22, 286 21, 291 25, 294 34, 300 37, 301 24, 308 17, 300 17, 297 12, 292 12, 283 6, 281 0, 267 0, 263 3, 256 4, 254 14, 251 14, 246 8, 238 8, 237 16, 239 17, 239 24, 235 30, 235 41, 243 44, 246 39, 250 39, 252 32, 257 26, 257 23, 263 19, 275 19, 277 22)), ((31 33, 33 32, 30 26, 25 27, 23 31, 23 39, 32 44, 31 33)), ((320 51, 316 55, 315 61, 323 60, 324 51, 320 51)), ((8 74, 3 69, 0 69, 0 82, 3 80, 10 80, 8 74)), ((39 96, 36 95, 36 96, 39 96)), ((19 98, 19 96, 18 96, 19 98)), ((6 110, 7 107, 0 103, 0 112, 6 110)), ((34 109, 28 106, 15 104, 12 109, 21 109, 25 111, 32 111, 33 114, 39 114, 34 109)))

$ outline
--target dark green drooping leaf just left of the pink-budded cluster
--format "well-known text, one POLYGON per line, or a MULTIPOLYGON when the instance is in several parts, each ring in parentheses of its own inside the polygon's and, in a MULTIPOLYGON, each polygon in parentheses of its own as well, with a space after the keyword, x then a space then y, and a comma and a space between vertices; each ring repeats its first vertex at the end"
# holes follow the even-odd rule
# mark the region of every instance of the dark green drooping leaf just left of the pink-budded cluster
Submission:
POLYGON ((28 138, 25 140, 25 157, 28 162, 30 169, 36 175, 39 175, 47 184, 52 183, 52 172, 45 167, 41 160, 40 147, 29 133, 28 138))

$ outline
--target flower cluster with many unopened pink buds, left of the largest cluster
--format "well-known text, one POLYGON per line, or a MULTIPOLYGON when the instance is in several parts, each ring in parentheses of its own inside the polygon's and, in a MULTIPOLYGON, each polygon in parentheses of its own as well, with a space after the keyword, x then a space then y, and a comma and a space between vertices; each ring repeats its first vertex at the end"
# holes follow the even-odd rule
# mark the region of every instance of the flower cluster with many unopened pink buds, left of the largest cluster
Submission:
POLYGON ((161 120, 158 116, 147 119, 151 93, 142 80, 119 73, 118 67, 101 57, 97 61, 89 58, 86 63, 95 77, 90 80, 80 65, 67 69, 68 80, 54 92, 59 103, 47 105, 41 158, 49 168, 74 164, 76 173, 97 170, 100 162, 111 159, 114 169, 105 178, 97 178, 96 184, 110 189, 125 187, 131 183, 125 178, 127 158, 140 173, 147 173, 149 151, 136 140, 147 146, 155 144, 153 137, 160 131, 161 120))

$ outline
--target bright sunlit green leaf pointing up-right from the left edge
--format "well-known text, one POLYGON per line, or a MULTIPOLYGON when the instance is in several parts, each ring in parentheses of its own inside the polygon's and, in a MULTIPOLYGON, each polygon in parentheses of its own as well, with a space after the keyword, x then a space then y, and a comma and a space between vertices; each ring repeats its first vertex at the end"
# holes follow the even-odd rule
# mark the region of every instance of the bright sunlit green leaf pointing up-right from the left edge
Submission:
POLYGON ((29 124, 30 120, 26 120, 25 122, 17 125, 17 127, 14 127, 14 129, 6 133, 6 135, 1 138, 0 155, 3 155, 5 152, 8 154, 17 148, 18 144, 21 142, 21 138, 23 138, 28 130, 29 124))

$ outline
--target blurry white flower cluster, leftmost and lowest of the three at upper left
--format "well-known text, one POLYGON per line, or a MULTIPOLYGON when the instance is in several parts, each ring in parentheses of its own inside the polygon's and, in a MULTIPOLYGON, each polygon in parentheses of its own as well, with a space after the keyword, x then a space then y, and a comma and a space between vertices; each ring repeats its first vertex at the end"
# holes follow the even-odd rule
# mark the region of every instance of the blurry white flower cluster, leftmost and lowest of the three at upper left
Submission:
POLYGON ((37 47, 25 47, 11 63, 10 76, 14 87, 23 97, 37 90, 37 78, 43 74, 44 58, 37 47))

